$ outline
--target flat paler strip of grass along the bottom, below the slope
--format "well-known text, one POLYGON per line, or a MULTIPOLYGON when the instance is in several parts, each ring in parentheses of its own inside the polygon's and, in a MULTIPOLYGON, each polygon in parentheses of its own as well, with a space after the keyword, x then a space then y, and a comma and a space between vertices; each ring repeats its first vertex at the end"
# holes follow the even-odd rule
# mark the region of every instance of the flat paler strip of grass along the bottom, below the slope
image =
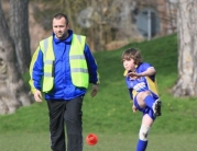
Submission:
MULTIPOLYGON (((87 133, 85 133, 86 136, 87 133)), ((134 151, 138 133, 97 133, 96 146, 84 143, 84 151, 134 151)), ((147 151, 193 151, 196 133, 150 135, 147 151)), ((47 132, 11 132, 0 136, 1 151, 50 151, 47 132)))

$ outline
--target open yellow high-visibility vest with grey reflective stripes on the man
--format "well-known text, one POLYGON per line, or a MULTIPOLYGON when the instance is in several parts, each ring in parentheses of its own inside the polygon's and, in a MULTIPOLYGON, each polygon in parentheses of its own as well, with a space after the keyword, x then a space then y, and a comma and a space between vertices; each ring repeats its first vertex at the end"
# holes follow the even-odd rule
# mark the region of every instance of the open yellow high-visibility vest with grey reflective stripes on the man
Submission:
MULTIPOLYGON (((86 37, 81 35, 73 34, 70 50, 69 50, 69 65, 72 82, 78 88, 88 88, 89 74, 86 58, 84 55, 84 48, 86 44, 86 37)), ((40 42, 41 50, 43 51, 44 61, 44 77, 42 91, 48 92, 54 85, 54 62, 55 56, 53 50, 53 36, 40 42)))

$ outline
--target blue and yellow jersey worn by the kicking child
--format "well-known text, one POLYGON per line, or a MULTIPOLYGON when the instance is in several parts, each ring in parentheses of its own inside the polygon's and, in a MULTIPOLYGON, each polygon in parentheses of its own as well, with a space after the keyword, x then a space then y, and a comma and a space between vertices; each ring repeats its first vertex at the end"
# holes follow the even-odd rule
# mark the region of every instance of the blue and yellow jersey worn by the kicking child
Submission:
MULTIPOLYGON (((153 68, 153 66, 146 62, 142 62, 136 68, 135 72, 141 73, 147 70, 149 68, 153 68)), ((124 76, 127 76, 127 73, 128 71, 124 72, 124 76)), ((153 94, 153 97, 158 98, 158 89, 157 89, 155 74, 151 77, 141 77, 135 80, 130 80, 129 77, 125 77, 125 83, 128 85, 130 96, 132 100, 139 92, 143 92, 143 91, 151 91, 153 94)))

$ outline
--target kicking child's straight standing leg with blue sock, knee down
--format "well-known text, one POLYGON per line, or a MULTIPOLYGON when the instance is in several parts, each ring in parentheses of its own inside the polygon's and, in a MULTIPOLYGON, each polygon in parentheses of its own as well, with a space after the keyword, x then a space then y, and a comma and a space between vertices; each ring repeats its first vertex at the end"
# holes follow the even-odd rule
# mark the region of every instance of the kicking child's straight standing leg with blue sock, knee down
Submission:
POLYGON ((145 151, 147 147, 147 136, 152 124, 153 124, 153 119, 147 114, 145 114, 142 118, 142 125, 139 132, 136 151, 145 151))

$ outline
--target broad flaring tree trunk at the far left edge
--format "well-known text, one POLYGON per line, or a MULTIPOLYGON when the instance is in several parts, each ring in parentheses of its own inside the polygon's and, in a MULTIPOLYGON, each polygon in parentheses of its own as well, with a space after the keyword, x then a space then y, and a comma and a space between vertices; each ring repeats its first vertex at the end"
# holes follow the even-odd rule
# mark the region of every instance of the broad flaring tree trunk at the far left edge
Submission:
POLYGON ((0 1, 0 114, 14 113, 20 106, 30 105, 33 101, 18 69, 14 43, 0 1))

